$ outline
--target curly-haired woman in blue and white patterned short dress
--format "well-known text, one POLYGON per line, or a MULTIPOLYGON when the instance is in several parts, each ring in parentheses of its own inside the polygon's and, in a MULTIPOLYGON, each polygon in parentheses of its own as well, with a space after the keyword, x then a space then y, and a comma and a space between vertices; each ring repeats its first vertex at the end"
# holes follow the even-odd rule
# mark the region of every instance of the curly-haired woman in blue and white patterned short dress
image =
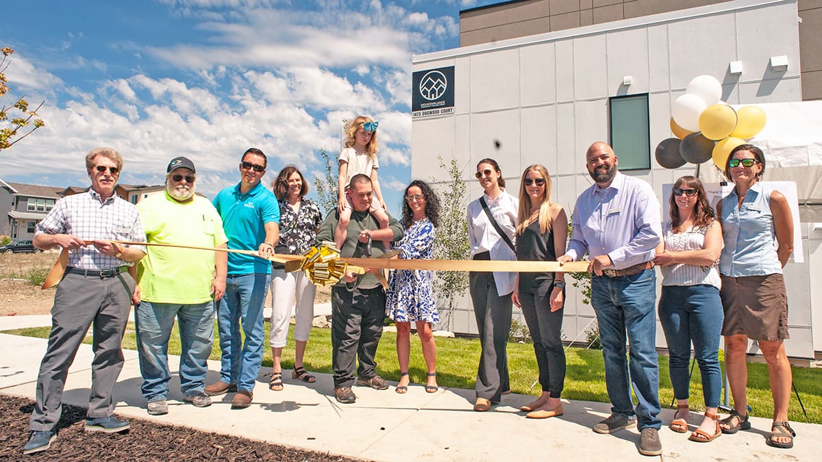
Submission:
MULTIPOLYGON (((426 182, 413 180, 405 188, 403 218, 404 238, 396 248, 399 258, 431 260, 434 253, 435 228, 439 224, 440 200, 426 182)), ((432 324, 440 321, 432 293, 434 271, 393 270, 389 276, 386 293, 386 316, 397 326, 397 359, 399 360, 399 384, 396 392, 408 391, 409 356, 411 352, 411 322, 417 325, 417 334, 423 342, 423 357, 427 367, 425 390, 435 393, 436 344, 432 324)))

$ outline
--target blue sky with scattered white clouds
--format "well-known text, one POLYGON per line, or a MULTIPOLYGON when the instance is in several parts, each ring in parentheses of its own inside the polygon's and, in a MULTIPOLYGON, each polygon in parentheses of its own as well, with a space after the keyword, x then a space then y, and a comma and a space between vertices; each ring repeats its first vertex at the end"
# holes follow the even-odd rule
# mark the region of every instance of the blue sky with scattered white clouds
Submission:
MULTIPOLYGON (((15 49, 12 91, 46 100, 46 127, 0 151, 0 178, 87 186, 83 156, 112 146, 120 182, 161 184, 191 158, 198 191, 238 182, 238 160, 269 157, 321 173, 342 120, 380 122, 380 181, 399 210, 410 181, 411 57, 459 46, 459 10, 477 0, 129 0, 16 2, 0 47, 15 49)), ((313 186, 313 184, 312 184, 313 186)))

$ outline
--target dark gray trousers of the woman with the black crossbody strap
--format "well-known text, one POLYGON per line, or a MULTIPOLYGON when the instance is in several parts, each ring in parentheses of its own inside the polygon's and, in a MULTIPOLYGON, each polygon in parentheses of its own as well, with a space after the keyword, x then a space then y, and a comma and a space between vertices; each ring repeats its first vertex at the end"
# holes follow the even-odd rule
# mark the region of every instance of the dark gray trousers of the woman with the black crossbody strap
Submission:
POLYGON ((510 390, 506 346, 511 330, 511 294, 496 292, 493 273, 469 273, 473 316, 482 352, 477 368, 477 397, 499 403, 510 390))

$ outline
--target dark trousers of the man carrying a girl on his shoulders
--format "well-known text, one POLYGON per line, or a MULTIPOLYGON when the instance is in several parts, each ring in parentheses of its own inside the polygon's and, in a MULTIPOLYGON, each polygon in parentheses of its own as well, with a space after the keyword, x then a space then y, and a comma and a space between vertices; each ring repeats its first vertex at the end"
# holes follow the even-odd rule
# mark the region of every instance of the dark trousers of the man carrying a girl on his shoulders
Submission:
POLYGON ((386 317, 386 292, 344 287, 331 289, 331 365, 334 388, 353 386, 356 377, 376 376, 376 347, 386 317))

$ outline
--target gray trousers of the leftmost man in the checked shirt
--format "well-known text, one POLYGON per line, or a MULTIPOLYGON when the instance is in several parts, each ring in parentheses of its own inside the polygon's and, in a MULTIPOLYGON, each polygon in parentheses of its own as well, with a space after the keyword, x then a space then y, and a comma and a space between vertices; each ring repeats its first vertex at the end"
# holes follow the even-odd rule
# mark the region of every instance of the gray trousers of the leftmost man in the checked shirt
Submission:
POLYGON ((32 431, 54 431, 62 411, 62 391, 68 367, 89 326, 94 324, 91 362, 91 393, 88 418, 108 417, 114 412, 112 392, 122 370, 122 335, 132 306, 134 280, 128 273, 113 278, 66 275, 52 307, 52 330, 37 377, 32 431))

